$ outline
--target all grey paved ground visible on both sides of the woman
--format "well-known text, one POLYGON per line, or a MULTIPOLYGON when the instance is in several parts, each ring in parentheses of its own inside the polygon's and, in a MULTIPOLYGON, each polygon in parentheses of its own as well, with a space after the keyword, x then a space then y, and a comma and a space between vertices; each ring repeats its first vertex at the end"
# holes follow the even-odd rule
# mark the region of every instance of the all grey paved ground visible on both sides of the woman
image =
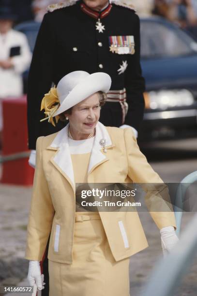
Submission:
MULTIPOLYGON (((197 152, 193 150, 193 145, 194 143, 189 152, 188 146, 184 149, 184 145, 182 148, 179 143, 178 147, 175 148, 171 146, 171 148, 166 147, 165 149, 147 147, 145 153, 152 160, 153 168, 164 181, 179 182, 185 175, 197 169, 197 152), (171 152, 168 149, 171 149, 171 152), (173 149, 174 151, 172 151, 173 149), (158 161, 162 157, 165 161, 158 161)), ((0 185, 0 285, 16 285, 27 276, 28 262, 23 257, 30 195, 31 188, 0 185)), ((194 213, 184 213, 182 228, 185 228, 193 215, 194 213)), ((140 218, 150 247, 131 257, 131 296, 141 295, 154 263, 162 254, 159 231, 149 214, 140 213, 140 218)), ((26 281, 23 281, 23 284, 25 283, 26 281)), ((10 294, 9 296, 12 295, 17 294, 10 294)), ((26 294, 22 295, 25 296, 26 294)), ((194 258, 190 273, 184 279, 177 296, 196 295, 197 258, 194 258)))

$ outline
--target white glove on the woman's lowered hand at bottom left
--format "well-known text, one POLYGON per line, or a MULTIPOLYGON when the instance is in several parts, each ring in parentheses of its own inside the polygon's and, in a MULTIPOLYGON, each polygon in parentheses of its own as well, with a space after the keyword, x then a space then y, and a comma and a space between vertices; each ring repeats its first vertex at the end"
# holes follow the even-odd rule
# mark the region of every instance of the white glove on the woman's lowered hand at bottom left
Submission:
POLYGON ((29 271, 28 271, 28 281, 30 286, 33 286, 32 296, 36 296, 37 289, 44 289, 44 275, 41 276, 40 263, 39 261, 30 260, 29 271))

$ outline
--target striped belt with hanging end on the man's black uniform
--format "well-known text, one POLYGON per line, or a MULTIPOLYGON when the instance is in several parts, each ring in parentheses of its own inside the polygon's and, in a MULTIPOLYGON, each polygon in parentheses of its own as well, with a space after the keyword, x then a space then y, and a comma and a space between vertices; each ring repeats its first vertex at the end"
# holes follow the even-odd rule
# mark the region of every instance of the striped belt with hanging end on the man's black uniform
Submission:
POLYGON ((128 112, 128 104, 126 103, 126 89, 109 90, 107 92, 107 102, 119 102, 122 108, 122 124, 128 112))

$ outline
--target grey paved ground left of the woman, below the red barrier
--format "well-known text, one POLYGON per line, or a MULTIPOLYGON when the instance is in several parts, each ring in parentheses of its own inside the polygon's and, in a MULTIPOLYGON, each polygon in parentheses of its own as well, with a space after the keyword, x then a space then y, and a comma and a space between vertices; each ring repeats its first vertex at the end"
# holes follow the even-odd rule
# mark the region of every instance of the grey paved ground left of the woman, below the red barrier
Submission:
POLYGON ((0 285, 27 275, 24 258, 31 188, 0 185, 0 285))

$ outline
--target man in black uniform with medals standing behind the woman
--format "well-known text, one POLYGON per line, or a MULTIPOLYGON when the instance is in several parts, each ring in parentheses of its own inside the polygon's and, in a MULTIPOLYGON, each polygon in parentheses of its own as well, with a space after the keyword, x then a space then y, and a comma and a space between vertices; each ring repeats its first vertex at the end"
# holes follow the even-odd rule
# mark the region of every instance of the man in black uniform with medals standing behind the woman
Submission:
MULTIPOLYGON (((50 5, 44 16, 30 67, 28 85, 29 148, 36 139, 61 130, 40 112, 52 83, 73 71, 105 72, 112 78, 100 121, 133 127, 136 135, 144 112, 144 78, 140 67, 139 18, 131 7, 108 0, 65 1, 50 5)), ((44 262, 44 273, 47 262, 44 262)), ((45 273, 45 282, 47 275, 45 273)), ((42 295, 48 295, 46 284, 42 295)))

